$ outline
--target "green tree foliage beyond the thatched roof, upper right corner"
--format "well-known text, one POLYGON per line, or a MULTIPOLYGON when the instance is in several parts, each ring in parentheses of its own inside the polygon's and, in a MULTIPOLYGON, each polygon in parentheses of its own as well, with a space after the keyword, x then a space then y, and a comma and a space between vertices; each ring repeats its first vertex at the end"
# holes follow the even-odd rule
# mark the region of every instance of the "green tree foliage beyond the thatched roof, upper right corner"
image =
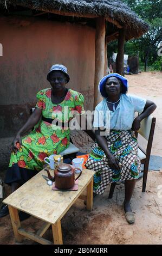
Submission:
MULTIPOLYGON (((125 54, 139 57, 141 62, 148 60, 148 65, 153 65, 154 62, 160 63, 160 57, 157 54, 158 47, 162 41, 162 1, 161 0, 122 0, 124 3, 138 14, 138 16, 145 20, 150 29, 147 33, 142 35, 139 39, 134 39, 126 42, 125 54)), ((112 42, 110 51, 117 50, 117 42, 112 42)), ((111 53, 110 53, 111 54, 111 53)), ((160 68, 160 65, 159 65, 160 68)))

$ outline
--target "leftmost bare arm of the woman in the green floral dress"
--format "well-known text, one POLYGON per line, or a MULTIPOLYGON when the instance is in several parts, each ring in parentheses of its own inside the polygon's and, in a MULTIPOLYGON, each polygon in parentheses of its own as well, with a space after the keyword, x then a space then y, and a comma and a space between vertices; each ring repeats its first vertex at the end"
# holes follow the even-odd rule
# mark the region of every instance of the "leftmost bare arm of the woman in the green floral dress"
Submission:
POLYGON ((17 135, 14 138, 14 141, 11 144, 11 152, 17 153, 17 150, 20 148, 18 147, 17 143, 22 145, 21 136, 28 132, 30 129, 32 129, 40 120, 42 115, 42 108, 35 108, 34 112, 30 115, 29 119, 27 120, 27 123, 24 124, 24 126, 17 132, 17 135))

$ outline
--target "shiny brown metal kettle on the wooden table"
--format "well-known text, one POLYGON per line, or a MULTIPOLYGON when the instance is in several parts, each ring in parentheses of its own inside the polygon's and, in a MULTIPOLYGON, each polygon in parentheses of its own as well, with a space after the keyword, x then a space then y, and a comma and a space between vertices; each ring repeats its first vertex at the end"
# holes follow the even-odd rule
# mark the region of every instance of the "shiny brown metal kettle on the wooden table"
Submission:
POLYGON ((68 190, 74 186, 75 180, 79 179, 82 174, 81 169, 73 168, 70 164, 60 163, 54 170, 54 176, 51 176, 49 170, 44 169, 48 173, 48 178, 51 181, 55 181, 55 186, 62 190, 68 190), (75 170, 80 170, 80 174, 75 178, 75 170))

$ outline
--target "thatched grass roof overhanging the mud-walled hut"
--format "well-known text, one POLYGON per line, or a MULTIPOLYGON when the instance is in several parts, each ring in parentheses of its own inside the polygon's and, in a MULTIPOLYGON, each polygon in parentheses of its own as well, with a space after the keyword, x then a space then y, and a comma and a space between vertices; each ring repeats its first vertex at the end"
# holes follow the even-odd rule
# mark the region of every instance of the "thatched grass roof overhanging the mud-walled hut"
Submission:
MULTIPOLYGON (((49 13, 60 12, 72 16, 106 17, 115 26, 125 27, 126 40, 138 38, 148 30, 148 24, 141 20, 126 4, 111 0, 0 0, 5 7, 9 4, 21 5, 49 13)), ((114 27, 115 27, 114 26, 114 27)), ((116 29, 117 30, 117 29, 116 29)), ((115 29, 113 29, 115 31, 115 29)))

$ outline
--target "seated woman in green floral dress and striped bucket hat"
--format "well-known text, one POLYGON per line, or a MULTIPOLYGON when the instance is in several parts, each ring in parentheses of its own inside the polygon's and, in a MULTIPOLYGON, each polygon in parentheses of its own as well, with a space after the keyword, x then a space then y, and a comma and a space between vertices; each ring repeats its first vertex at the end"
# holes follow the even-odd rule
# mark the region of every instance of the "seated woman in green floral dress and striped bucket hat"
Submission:
MULTIPOLYGON (((11 192, 43 168, 45 157, 60 154, 68 148, 68 123, 74 113, 81 115, 84 112, 83 95, 65 87, 70 80, 65 66, 53 65, 47 80, 52 88, 37 93, 38 101, 33 114, 18 131, 11 145, 12 154, 4 180, 11 185, 11 192), (22 137, 33 127, 33 131, 22 137)), ((8 213, 8 206, 3 205, 0 217, 8 213)))

